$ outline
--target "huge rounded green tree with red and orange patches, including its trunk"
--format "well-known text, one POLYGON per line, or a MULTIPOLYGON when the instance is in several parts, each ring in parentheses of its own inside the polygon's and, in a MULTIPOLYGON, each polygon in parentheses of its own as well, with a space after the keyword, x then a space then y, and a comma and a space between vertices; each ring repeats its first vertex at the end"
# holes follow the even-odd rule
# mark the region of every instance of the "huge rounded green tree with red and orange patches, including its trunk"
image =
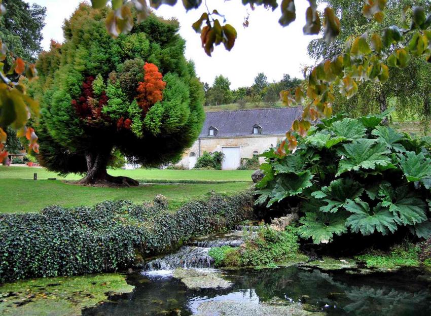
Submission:
POLYGON ((146 166, 179 159, 202 127, 203 88, 177 21, 152 15, 113 39, 109 13, 81 4, 64 23, 64 43, 39 56, 29 93, 42 109, 40 161, 86 173, 80 184, 137 185, 107 174, 113 151, 146 166))

